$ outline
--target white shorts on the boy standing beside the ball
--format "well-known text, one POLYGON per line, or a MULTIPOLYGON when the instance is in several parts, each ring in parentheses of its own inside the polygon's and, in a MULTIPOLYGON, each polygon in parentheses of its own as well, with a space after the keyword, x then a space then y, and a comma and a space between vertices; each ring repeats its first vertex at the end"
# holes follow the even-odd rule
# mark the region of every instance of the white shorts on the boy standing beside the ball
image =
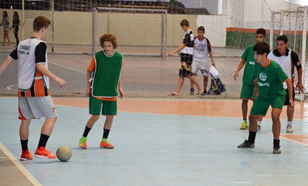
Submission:
POLYGON ((21 120, 58 117, 51 96, 18 97, 18 109, 21 120))

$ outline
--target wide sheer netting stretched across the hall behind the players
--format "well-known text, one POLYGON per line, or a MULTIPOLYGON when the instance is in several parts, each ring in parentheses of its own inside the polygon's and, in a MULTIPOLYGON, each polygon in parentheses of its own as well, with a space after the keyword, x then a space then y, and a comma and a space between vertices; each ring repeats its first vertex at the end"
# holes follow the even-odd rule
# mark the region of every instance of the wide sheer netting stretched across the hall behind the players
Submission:
MULTIPOLYGON (((273 29, 271 44, 275 48, 273 41, 282 25, 283 34, 289 38, 289 47, 293 49, 295 46, 294 50, 302 57, 304 23, 300 11, 303 9, 298 9, 302 6, 294 2, 296 0, 0 0, 0 9, 7 11, 10 26, 13 12, 19 13, 20 40, 32 34, 35 17, 43 15, 51 21, 46 42, 48 53, 55 55, 48 55, 49 67, 67 81, 64 89, 51 82, 52 95, 84 95, 90 54, 101 50, 100 36, 111 32, 118 39, 117 50, 124 54, 122 78, 126 94, 132 97, 166 97, 176 88, 179 58, 177 54, 170 58, 157 57, 164 57, 183 44, 185 32, 180 22, 186 19, 194 36, 197 36, 197 28, 204 26, 205 37, 211 43, 214 62, 226 85, 228 97, 238 98, 243 69, 238 81, 233 80, 233 75, 244 50, 255 44, 258 28, 266 29, 267 43, 270 43, 270 29, 273 29), (296 10, 298 14, 284 12, 281 23, 280 10, 296 10), (272 12, 278 12, 275 20, 273 18, 273 27, 270 26, 272 12)), ((12 31, 9 36, 11 46, 2 46, 0 41, 0 52, 6 57, 15 44, 12 31)), ((3 32, 0 32, 0 38, 3 38, 3 32)), ((308 88, 306 72, 303 82, 308 88)), ((16 82, 12 82, 13 79, 0 79, 0 94, 15 94, 16 86, 13 85, 16 82)), ((200 72, 197 79, 203 84, 200 72)), ((190 98, 188 82, 185 81, 181 95, 190 98)))

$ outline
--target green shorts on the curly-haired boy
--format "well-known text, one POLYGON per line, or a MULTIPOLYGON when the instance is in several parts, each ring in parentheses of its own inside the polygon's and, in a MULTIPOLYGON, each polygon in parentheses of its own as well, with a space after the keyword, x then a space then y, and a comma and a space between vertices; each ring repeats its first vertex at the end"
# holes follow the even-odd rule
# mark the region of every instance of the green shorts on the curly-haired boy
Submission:
POLYGON ((117 100, 116 101, 103 101, 90 96, 89 101, 89 114, 94 116, 115 116, 117 115, 117 100), (102 106, 103 105, 103 106, 102 106), (102 113, 101 113, 102 111, 102 113))

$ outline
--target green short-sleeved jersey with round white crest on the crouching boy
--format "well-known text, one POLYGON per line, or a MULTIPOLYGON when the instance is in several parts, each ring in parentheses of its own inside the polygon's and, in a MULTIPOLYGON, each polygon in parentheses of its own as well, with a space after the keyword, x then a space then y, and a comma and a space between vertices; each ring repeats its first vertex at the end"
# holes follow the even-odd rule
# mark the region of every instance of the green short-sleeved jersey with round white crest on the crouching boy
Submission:
POLYGON ((286 92, 282 83, 288 79, 288 76, 278 63, 269 59, 268 61, 267 66, 256 63, 259 97, 272 99, 277 96, 285 96, 286 92))

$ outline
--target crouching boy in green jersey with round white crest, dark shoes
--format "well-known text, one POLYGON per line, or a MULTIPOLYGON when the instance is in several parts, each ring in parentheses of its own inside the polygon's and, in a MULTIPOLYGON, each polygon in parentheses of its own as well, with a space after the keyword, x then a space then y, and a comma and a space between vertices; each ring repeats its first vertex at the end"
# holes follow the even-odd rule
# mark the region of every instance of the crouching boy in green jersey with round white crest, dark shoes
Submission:
POLYGON ((249 116, 249 136, 248 140, 238 145, 238 148, 255 147, 255 138, 258 130, 257 122, 265 116, 269 105, 271 105, 271 120, 273 121, 274 150, 273 154, 280 154, 280 114, 285 101, 285 89, 283 83, 286 82, 289 94, 291 109, 294 109, 293 86, 289 77, 275 61, 269 60, 269 46, 266 43, 258 43, 253 47, 256 59, 256 76, 258 86, 255 88, 256 101, 253 103, 249 116))

